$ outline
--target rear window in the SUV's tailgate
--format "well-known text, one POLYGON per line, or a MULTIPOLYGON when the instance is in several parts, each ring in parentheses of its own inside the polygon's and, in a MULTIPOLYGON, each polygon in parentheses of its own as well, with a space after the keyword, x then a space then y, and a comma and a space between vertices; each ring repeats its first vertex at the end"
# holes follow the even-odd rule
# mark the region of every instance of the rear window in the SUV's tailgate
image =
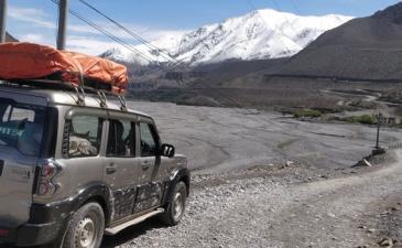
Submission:
POLYGON ((40 155, 46 108, 0 98, 0 145, 40 155))

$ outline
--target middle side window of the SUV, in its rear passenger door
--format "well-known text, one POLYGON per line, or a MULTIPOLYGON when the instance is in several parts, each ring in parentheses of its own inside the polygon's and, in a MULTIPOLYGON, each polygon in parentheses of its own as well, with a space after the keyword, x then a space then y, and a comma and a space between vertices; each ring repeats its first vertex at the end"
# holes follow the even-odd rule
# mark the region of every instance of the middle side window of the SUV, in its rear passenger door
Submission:
POLYGON ((110 120, 107 157, 135 155, 135 126, 128 120, 110 120))

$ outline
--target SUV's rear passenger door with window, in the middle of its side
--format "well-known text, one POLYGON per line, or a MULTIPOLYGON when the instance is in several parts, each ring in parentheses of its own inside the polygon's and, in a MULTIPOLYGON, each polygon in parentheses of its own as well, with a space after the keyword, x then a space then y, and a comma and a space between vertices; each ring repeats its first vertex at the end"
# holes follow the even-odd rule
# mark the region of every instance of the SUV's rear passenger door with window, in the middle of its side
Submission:
POLYGON ((121 117, 109 119, 105 179, 112 195, 112 220, 133 214, 139 174, 135 153, 135 123, 121 117))

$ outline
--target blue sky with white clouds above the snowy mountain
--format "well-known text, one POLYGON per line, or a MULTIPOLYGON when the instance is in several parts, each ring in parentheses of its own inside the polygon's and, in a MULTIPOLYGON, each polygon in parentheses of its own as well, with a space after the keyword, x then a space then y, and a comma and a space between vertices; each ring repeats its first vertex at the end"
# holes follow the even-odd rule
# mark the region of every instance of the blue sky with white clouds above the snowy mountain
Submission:
MULTIPOLYGON (((275 9, 301 15, 337 13, 370 15, 394 4, 394 0, 87 0, 146 40, 167 33, 183 33, 202 25, 242 15, 257 9, 275 9)), ((117 32, 110 23, 70 0, 70 9, 112 31, 124 41, 135 41, 117 32)), ((57 7, 51 0, 9 0, 8 31, 22 41, 55 45, 57 7)), ((70 50, 97 54, 116 44, 74 17, 68 20, 70 50)))

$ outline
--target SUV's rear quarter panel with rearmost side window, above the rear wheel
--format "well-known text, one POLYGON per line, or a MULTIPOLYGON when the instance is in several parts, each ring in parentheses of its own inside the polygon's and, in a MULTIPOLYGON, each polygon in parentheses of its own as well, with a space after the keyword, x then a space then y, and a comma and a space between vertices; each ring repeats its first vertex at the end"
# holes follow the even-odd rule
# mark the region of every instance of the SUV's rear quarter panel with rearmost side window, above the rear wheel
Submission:
POLYGON ((100 109, 66 108, 65 123, 61 128, 62 158, 56 160, 63 166, 63 176, 57 177, 62 188, 51 201, 77 195, 99 184, 104 177, 107 112, 100 109))

